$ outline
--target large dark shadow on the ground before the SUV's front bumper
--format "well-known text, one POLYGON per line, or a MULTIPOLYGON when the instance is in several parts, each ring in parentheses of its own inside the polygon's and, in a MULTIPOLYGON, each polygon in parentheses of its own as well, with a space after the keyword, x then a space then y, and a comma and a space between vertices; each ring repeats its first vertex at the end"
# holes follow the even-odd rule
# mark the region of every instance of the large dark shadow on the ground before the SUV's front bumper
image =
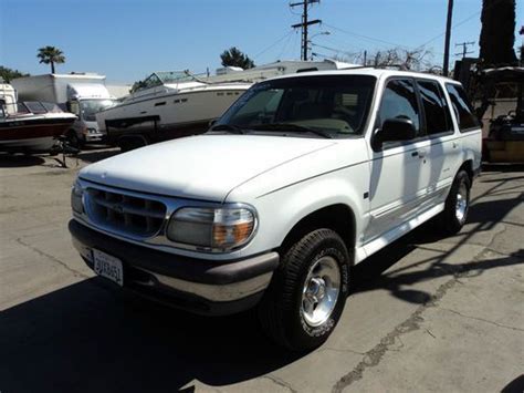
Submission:
POLYGON ((166 392, 245 381, 296 356, 249 313, 203 318, 90 279, 0 314, 2 392, 166 392))

